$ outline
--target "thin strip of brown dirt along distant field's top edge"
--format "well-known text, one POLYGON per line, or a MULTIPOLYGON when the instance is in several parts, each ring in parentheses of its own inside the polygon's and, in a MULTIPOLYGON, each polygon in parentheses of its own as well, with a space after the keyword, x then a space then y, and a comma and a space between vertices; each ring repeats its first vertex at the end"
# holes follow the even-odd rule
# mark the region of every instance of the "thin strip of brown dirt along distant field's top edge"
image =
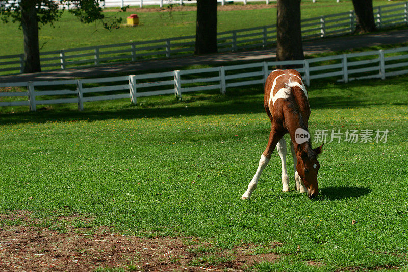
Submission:
MULTIPOLYGON (((254 9, 270 9, 276 8, 276 4, 248 4, 248 5, 219 5, 217 7, 218 11, 230 11, 230 10, 254 10, 254 9)), ((170 11, 194 11, 197 10, 196 6, 180 6, 174 5, 171 8, 167 8, 167 5, 163 5, 163 8, 159 7, 149 7, 144 8, 128 8, 126 11, 130 12, 170 12, 170 11)), ((119 12, 120 9, 106 8, 104 12, 119 12)))

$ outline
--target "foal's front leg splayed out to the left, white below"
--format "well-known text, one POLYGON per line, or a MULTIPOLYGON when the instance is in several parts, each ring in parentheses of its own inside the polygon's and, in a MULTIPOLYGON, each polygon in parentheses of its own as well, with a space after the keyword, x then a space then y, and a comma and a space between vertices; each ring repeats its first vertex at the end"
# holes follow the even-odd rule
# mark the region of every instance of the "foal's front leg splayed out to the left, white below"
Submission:
POLYGON ((253 176, 251 182, 248 184, 248 189, 242 195, 242 199, 250 199, 252 192, 257 188, 259 177, 261 177, 262 171, 268 165, 271 159, 271 154, 276 147, 277 142, 282 138, 283 134, 279 133, 278 130, 272 125, 271 132, 269 134, 268 144, 265 151, 261 155, 259 160, 258 169, 253 176))

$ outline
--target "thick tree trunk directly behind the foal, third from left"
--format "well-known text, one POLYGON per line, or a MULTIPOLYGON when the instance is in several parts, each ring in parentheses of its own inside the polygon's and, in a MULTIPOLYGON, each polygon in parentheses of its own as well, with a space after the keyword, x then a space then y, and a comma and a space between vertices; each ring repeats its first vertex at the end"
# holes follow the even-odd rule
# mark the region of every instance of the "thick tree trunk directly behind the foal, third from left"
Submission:
POLYGON ((277 0, 276 60, 302 60, 300 0, 277 0))

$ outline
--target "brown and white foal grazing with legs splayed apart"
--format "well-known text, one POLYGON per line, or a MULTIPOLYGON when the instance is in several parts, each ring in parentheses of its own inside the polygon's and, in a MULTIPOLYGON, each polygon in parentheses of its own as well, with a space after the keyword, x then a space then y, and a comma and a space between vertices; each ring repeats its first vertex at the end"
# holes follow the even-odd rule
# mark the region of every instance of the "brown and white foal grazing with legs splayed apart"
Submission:
MULTIPOLYGON (((242 195, 249 199, 257 188, 262 171, 268 165, 275 147, 282 161, 282 191, 289 191, 289 177, 286 169, 286 141, 283 136, 289 133, 291 151, 295 166, 296 190, 301 193, 308 192, 310 199, 319 194, 317 185, 317 172, 320 164, 317 155, 321 153, 323 144, 312 149, 310 134, 308 133, 308 120, 310 106, 308 92, 304 87, 300 74, 293 69, 274 70, 265 83, 264 106, 266 114, 272 122, 269 141, 262 153, 257 172, 242 195), (296 131, 297 130, 297 131, 296 131), (309 139, 299 138, 299 131, 308 134, 309 139)), ((304 135, 303 135, 304 136, 304 135)))

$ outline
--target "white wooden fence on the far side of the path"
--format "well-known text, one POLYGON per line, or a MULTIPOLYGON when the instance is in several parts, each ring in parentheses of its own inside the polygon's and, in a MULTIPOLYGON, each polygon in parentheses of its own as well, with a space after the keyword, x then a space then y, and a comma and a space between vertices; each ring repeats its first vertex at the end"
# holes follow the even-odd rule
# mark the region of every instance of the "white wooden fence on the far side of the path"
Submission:
MULTIPOLYGON (((374 12, 379 28, 395 24, 408 25, 408 1, 375 7, 374 12)), ((351 33, 355 29, 355 22, 353 11, 304 19, 302 37, 313 39, 351 33)), ((276 43, 276 25, 220 32, 217 40, 219 52, 266 47, 276 43)), ((67 69, 191 55, 194 52, 194 41, 195 36, 184 36, 41 52, 41 68, 67 69)), ((0 73, 21 73, 23 65, 23 54, 0 56, 0 73)))

